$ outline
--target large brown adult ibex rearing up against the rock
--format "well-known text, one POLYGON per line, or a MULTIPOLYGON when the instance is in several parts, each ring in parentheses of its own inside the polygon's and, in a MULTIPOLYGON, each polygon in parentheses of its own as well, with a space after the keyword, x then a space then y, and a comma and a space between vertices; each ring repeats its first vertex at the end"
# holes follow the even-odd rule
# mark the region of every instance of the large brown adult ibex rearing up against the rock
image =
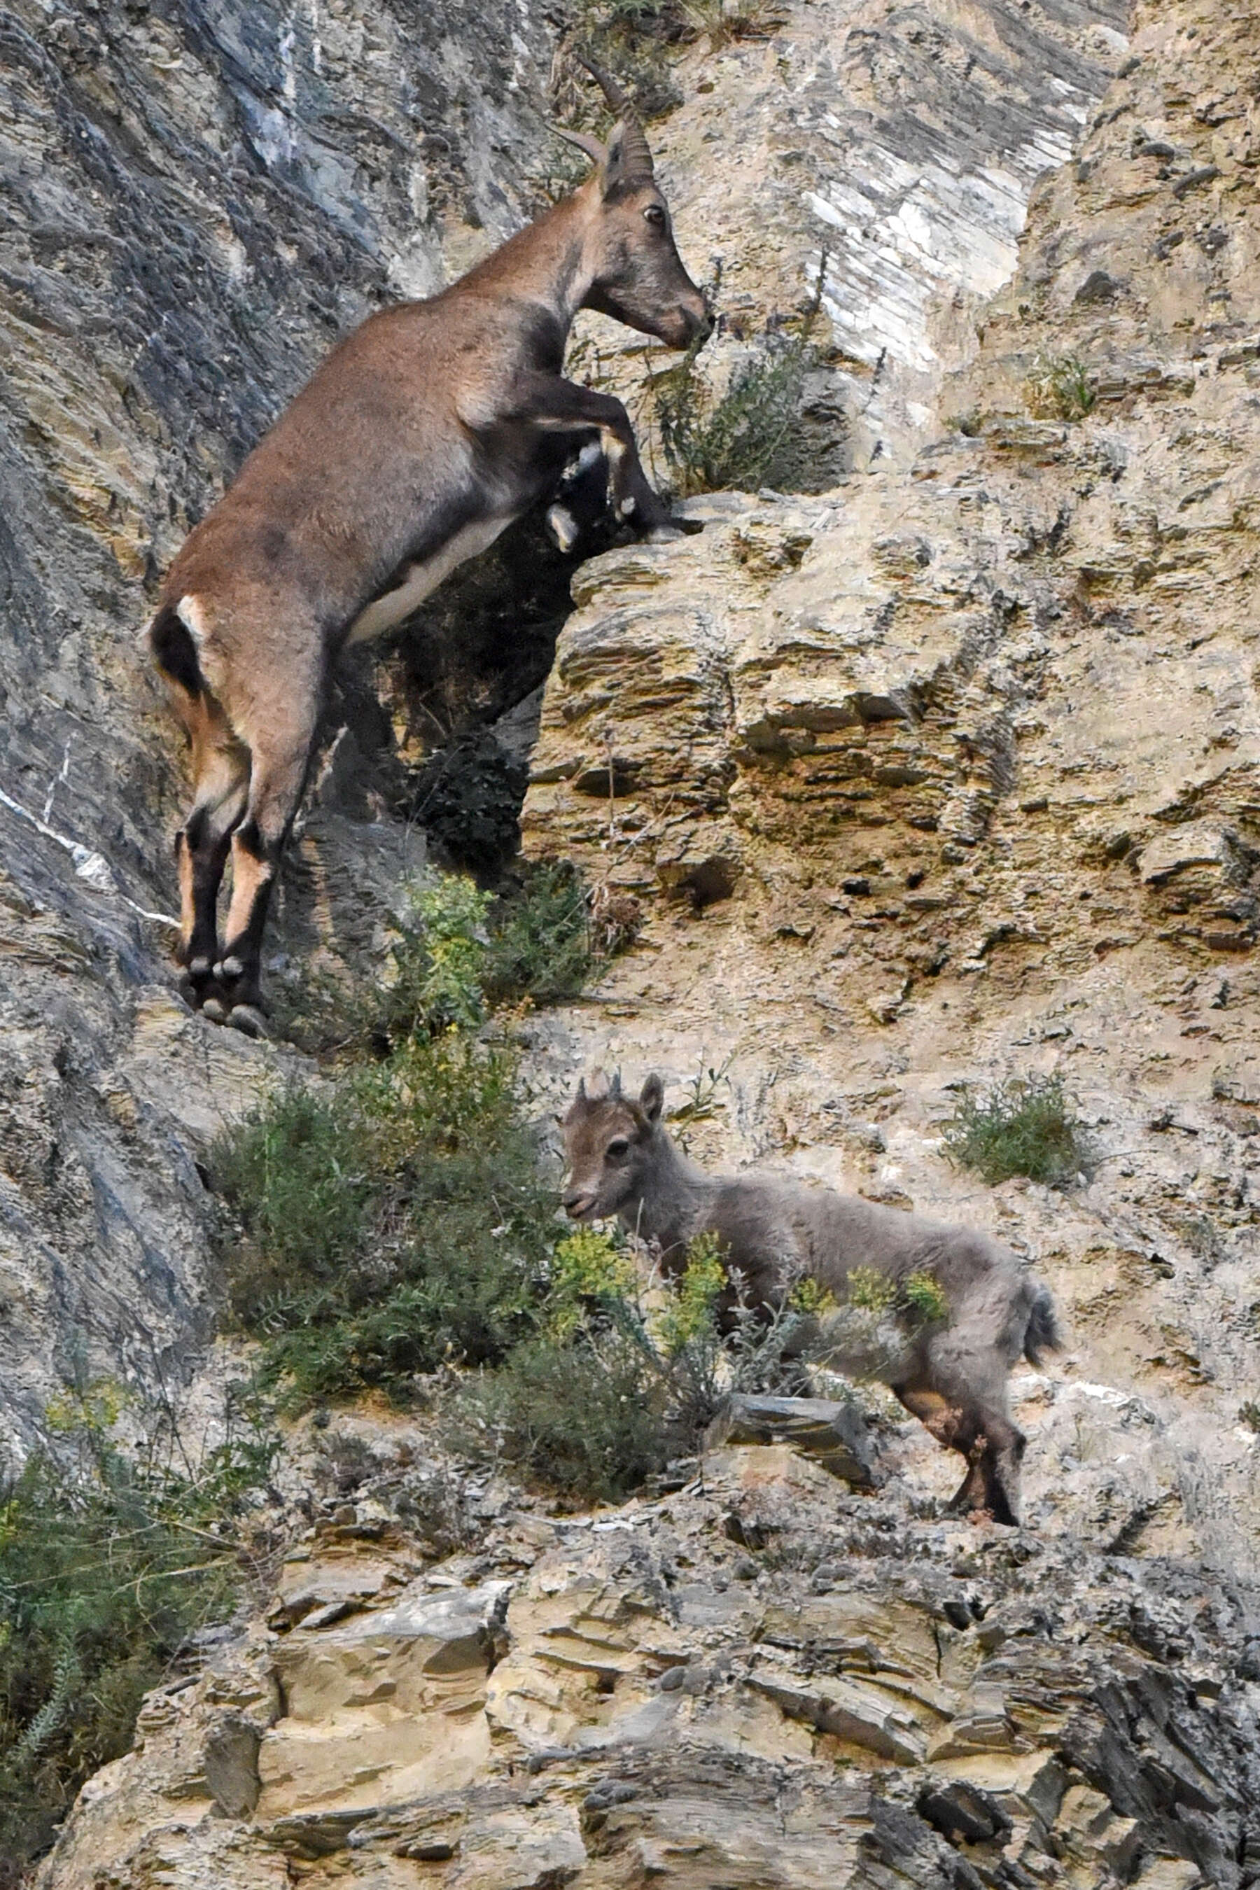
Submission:
MULTIPOLYGON (((595 68, 591 68, 595 72, 595 68)), ((442 578, 555 491, 584 442, 614 510, 669 527, 620 401, 561 374, 580 308, 688 348, 710 329, 621 91, 595 172, 442 295, 349 335, 189 535, 147 643, 193 745, 176 841, 181 988, 259 1032, 266 905, 338 650, 400 624, 442 578), (232 860, 223 943, 219 885, 232 860)), ((563 531, 563 524, 561 524, 563 531)))

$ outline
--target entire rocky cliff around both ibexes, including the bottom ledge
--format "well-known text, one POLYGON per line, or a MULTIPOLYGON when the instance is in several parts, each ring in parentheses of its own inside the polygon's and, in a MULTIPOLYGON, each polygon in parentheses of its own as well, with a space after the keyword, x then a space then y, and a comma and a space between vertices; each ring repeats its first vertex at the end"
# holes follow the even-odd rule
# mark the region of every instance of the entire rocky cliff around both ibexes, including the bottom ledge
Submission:
MULTIPOLYGON (((389 1497, 438 1440, 338 1419, 376 1484, 314 1503, 266 1616, 149 1699, 47 1890, 1260 1879, 1256 23, 1222 0, 776 19, 688 53, 654 138, 684 253, 724 257, 718 367, 827 251, 814 423, 844 476, 693 501, 703 535, 578 573, 525 845, 644 928, 525 1024, 529 1074, 542 1111, 589 1060, 659 1068, 674 1102, 722 1072, 699 1157, 1035 1255, 1071 1351, 1014 1380, 1028 1527, 933 1520, 950 1467, 873 1406, 877 1493, 731 1442, 593 1520, 474 1484, 442 1555, 389 1497), (990 1191, 945 1162, 960 1083, 1047 1072, 1090 1177, 990 1191)), ((132 654, 151 565, 336 329, 525 214, 552 28, 19 6, 4 30, 0 1399, 23 1431, 76 1361, 191 1372, 217 1291, 198 1162, 295 1055, 168 987, 178 760, 132 654)), ((580 350, 642 372, 608 325, 580 350)), ((442 662, 395 660, 393 730, 348 680, 278 973, 380 949, 442 662)))

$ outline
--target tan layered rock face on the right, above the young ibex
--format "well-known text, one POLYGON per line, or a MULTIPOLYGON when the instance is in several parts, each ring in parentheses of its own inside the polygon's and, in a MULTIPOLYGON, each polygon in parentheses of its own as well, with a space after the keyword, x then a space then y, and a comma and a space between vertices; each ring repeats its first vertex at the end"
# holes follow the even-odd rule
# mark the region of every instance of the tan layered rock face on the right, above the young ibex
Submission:
POLYGON ((905 465, 697 501, 701 537, 584 567, 525 803, 529 847, 648 915, 552 1066, 659 1064, 674 1094, 725 1068, 705 1153, 1035 1253, 1079 1368, 1173 1440, 1160 1472, 1124 1453, 1113 1501, 1152 1474, 1150 1527, 1222 1565, 1256 1531, 1245 30, 1137 9, 905 465), (962 1183, 958 1083, 1052 1070, 1088 1187, 962 1183))

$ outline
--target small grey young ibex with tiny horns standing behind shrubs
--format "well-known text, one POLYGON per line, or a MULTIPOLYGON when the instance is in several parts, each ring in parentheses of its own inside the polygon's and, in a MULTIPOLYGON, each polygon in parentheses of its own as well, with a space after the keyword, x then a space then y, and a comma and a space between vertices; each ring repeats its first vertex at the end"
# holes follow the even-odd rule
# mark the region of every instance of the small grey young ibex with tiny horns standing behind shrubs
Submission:
MULTIPOLYGON (((952 1506, 1018 1521, 1024 1435, 1011 1421, 1007 1372, 1020 1353, 1037 1365, 1043 1348, 1062 1344, 1050 1289, 1009 1247, 971 1228, 756 1170, 708 1176, 665 1134, 663 1100, 659 1075, 648 1077, 639 1100, 621 1092, 620 1077, 578 1085, 565 1117, 572 1219, 618 1215, 659 1247, 667 1274, 686 1264, 695 1234, 714 1232, 727 1272, 741 1276, 754 1306, 773 1306, 799 1278, 816 1280, 843 1304, 860 1268, 894 1289, 929 1274, 948 1310, 939 1321, 905 1321, 878 1376, 941 1444, 967 1459, 952 1506)), ((843 1368, 843 1336, 835 1344, 826 1323, 824 1344, 843 1368)))

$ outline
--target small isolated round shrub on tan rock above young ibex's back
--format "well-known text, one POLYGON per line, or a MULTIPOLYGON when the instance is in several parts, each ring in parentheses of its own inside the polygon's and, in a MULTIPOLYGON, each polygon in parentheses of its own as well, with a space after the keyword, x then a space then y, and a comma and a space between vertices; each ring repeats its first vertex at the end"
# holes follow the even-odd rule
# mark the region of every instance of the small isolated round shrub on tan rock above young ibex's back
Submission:
POLYGON ((963 1096, 945 1125, 945 1151, 960 1168, 996 1187, 1028 1176, 1064 1187, 1090 1166, 1090 1147, 1062 1077, 1013 1077, 980 1096, 963 1096))

